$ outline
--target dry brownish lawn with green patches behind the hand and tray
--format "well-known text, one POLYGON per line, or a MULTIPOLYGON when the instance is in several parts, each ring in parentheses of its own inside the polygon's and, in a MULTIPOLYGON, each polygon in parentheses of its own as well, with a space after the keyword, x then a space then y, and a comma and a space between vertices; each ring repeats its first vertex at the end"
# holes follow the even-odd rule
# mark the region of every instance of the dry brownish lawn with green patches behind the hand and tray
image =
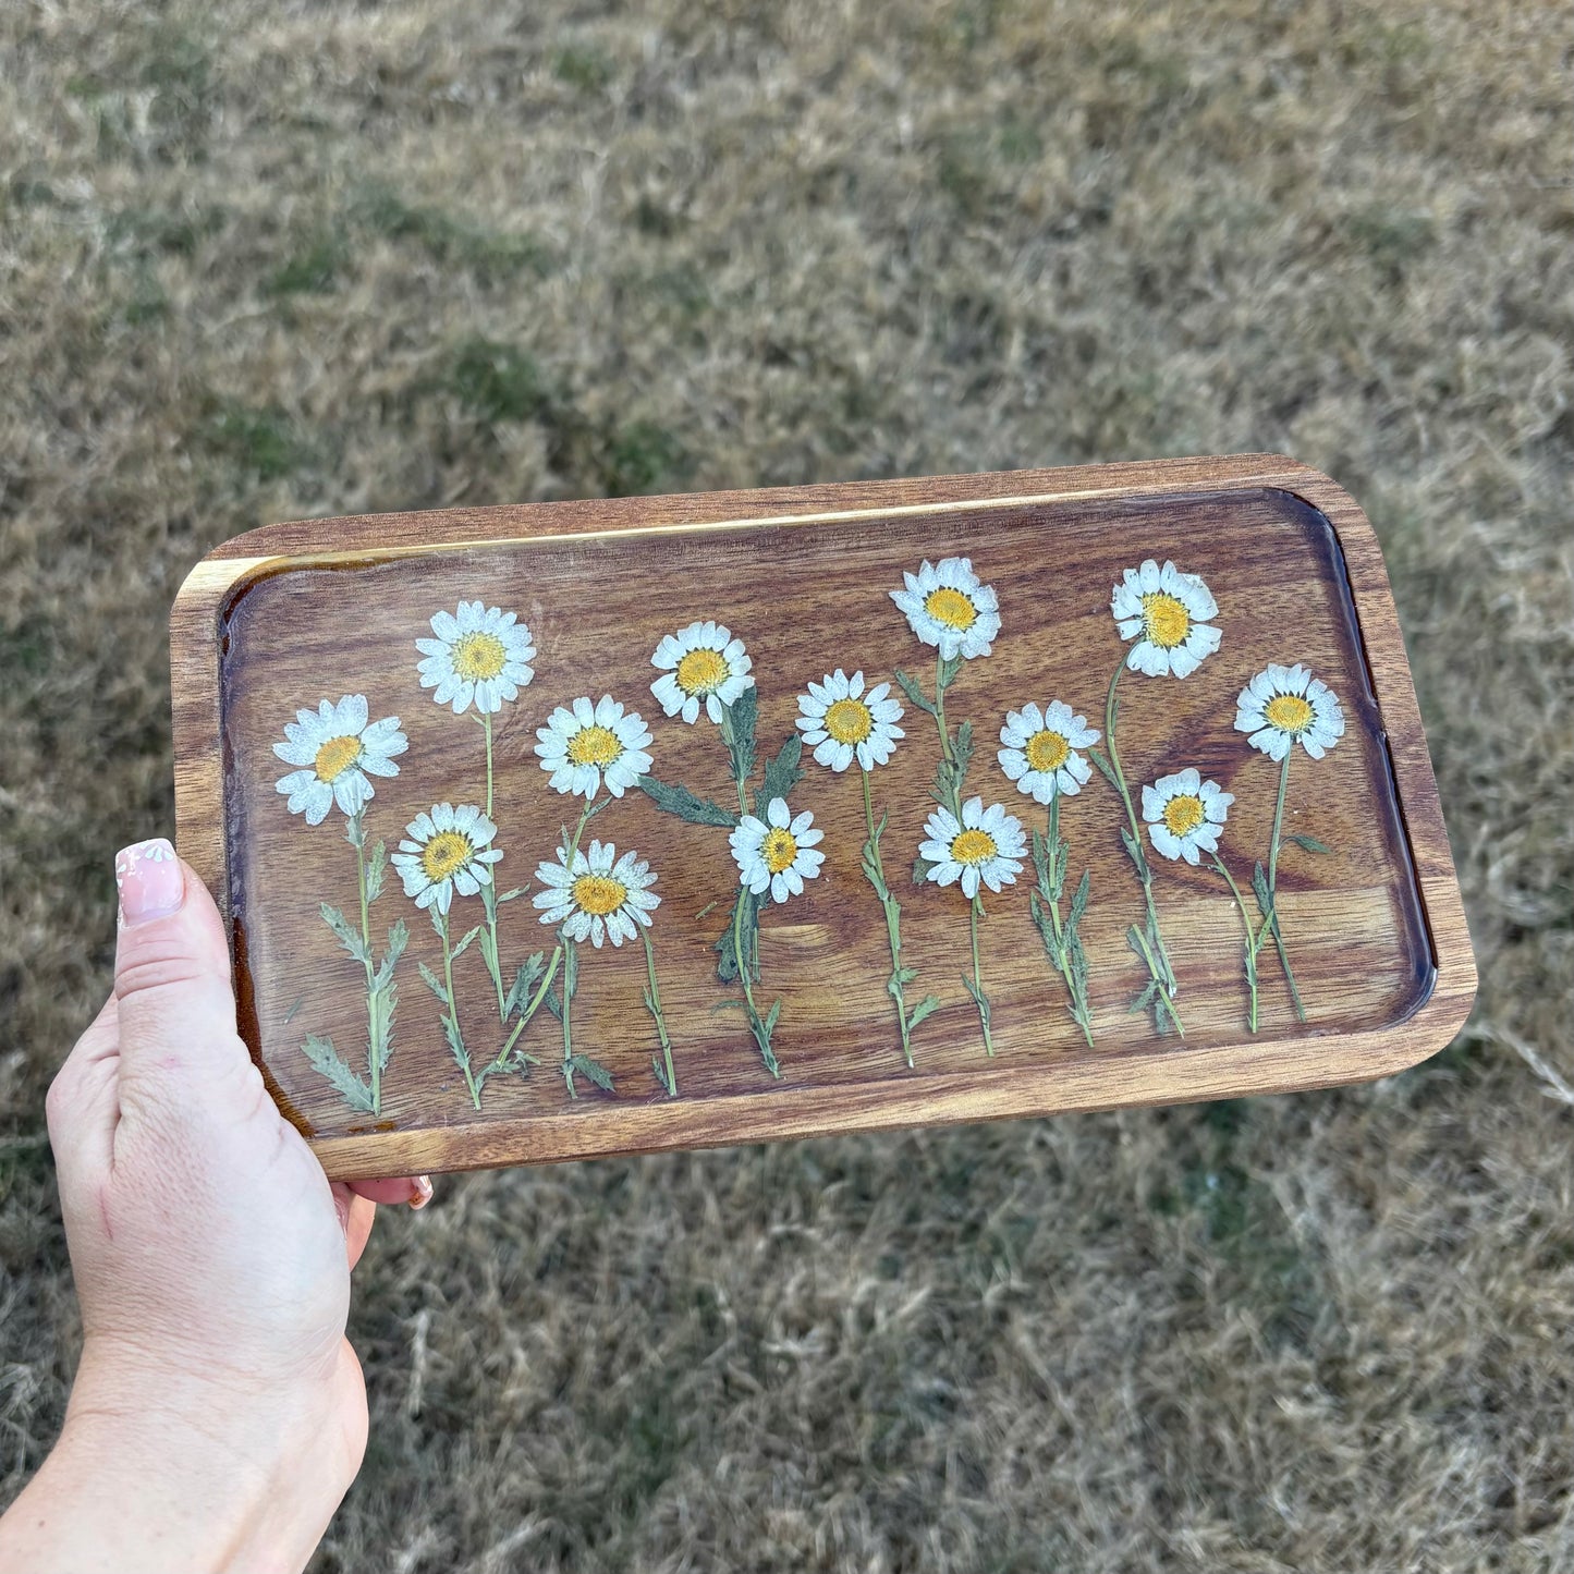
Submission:
POLYGON ((304 513, 1281 449, 1371 513, 1484 973, 1369 1088, 444 1182, 320 1569, 1574 1560, 1574 13, 0 11, 0 1489, 164 615, 304 513))

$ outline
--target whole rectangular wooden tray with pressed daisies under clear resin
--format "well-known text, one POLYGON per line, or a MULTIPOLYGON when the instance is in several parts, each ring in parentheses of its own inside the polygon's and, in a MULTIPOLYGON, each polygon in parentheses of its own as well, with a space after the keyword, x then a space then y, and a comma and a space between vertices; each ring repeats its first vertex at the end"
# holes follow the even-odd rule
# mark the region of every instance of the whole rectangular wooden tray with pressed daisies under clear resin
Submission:
MULTIPOLYGON (((1475 992, 1377 543, 1338 486, 1286 458, 279 524, 238 537, 194 570, 175 603, 172 655, 181 852, 231 924, 241 1031, 280 1107, 331 1176, 538 1163, 1355 1081, 1440 1048, 1464 1022, 1475 992), (963 557, 976 579, 949 562, 963 557), (916 600, 908 604, 938 615, 938 622, 918 619, 930 637, 963 641, 943 674, 937 666, 949 645, 922 642, 892 600, 926 560, 938 578, 916 578, 916 600), (1154 567, 1143 578, 1146 562, 1154 567), (1165 576, 1166 562, 1180 579, 1165 576), (1127 622, 1127 633, 1136 630, 1133 639, 1122 637, 1111 612, 1113 587, 1124 584, 1127 570, 1138 597, 1138 617, 1127 622), (944 595, 933 598, 935 586, 944 595), (1217 603, 1210 617, 1209 597, 1217 603), (438 614, 445 617, 433 625, 438 614), (501 622, 501 614, 515 620, 501 622), (741 675, 732 647, 697 656, 661 685, 658 650, 671 669, 689 645, 727 645, 729 636, 710 639, 705 628, 680 639, 682 650, 667 639, 707 622, 724 625, 752 663, 748 677, 756 686, 741 689, 737 704, 718 707, 722 724, 704 705, 693 722, 682 711, 666 715, 652 688, 671 691, 671 680, 683 677, 699 697, 718 674, 741 675), (488 663, 499 650, 505 658, 526 655, 524 628, 534 647, 526 660, 530 677, 505 667, 504 677, 521 682, 513 697, 494 686, 497 708, 483 718, 477 705, 488 702, 488 663), (1220 631, 1212 652, 1207 628, 1220 631), (475 633, 491 644, 488 637, 464 644, 475 633), (1182 633, 1190 645, 1166 645, 1182 633), (417 641, 427 645, 419 648, 417 641), (1122 666, 1133 656, 1149 667, 1173 667, 1174 652, 1187 648, 1201 652, 1201 661, 1185 677, 1122 666), (423 686, 420 663, 436 680, 455 661, 480 674, 478 689, 450 696, 452 685, 423 686), (1237 730, 1237 696, 1270 666, 1297 663, 1336 697, 1343 735, 1313 757, 1305 741, 1332 737, 1328 700, 1321 688, 1275 672, 1264 680, 1273 693, 1299 688, 1302 699, 1317 702, 1270 713, 1284 729, 1299 727, 1313 710, 1317 716, 1297 733, 1302 741, 1292 745, 1284 773, 1247 730, 1237 730), (833 768, 834 759, 820 763, 814 745, 826 733, 795 729, 800 696, 812 699, 809 685, 823 685, 839 669, 847 678, 863 674, 863 694, 852 697, 870 699, 877 685, 892 683, 889 694, 905 711, 897 722, 905 737, 867 778, 872 812, 883 818, 886 896, 878 877, 870 878, 856 759, 845 771, 833 768), (896 686, 897 671, 908 691, 896 686), (1118 671, 1116 740, 1133 814, 1105 770, 1108 738, 1100 737, 1096 749, 1080 748, 1067 768, 1086 774, 1086 785, 1055 800, 1066 844, 1056 869, 1045 842, 1029 845, 1036 833, 1048 831, 1050 809, 1020 790, 1034 782, 1007 779, 998 759, 1001 729, 1009 711, 1059 700, 1107 733, 1118 671), (963 809, 962 829, 974 831, 962 841, 948 825, 930 826, 926 836, 937 812, 930 789, 941 763, 941 729, 924 707, 933 707, 941 675, 949 678, 949 746, 954 752, 966 741, 960 729, 970 724, 974 748, 960 800, 951 792, 954 782, 938 784, 938 796, 963 809), (537 903, 551 889, 538 866, 554 861, 565 836, 573 841, 586 806, 582 796, 554 787, 537 754, 537 733, 551 735, 549 718, 559 707, 571 715, 576 699, 597 702, 603 694, 625 707, 606 729, 612 741, 587 730, 565 757, 593 763, 615 754, 620 763, 608 765, 603 789, 619 773, 631 782, 641 748, 652 763, 644 785, 606 795, 609 806, 581 826, 578 852, 595 855, 592 844, 611 842, 622 858, 637 848, 656 877, 648 889, 660 896, 648 929, 628 922, 633 938, 615 948, 597 948, 589 938, 575 944, 571 935, 563 944, 556 914, 548 908, 554 922, 543 924, 537 903), (453 700, 463 705, 466 697, 469 707, 455 713, 453 700), (326 719, 320 705, 327 707, 326 719), (310 713, 304 726, 296 719, 302 710, 310 713), (642 730, 628 721, 631 711, 642 718, 642 730), (397 724, 378 730, 389 718, 397 724), (286 741, 286 724, 296 727, 294 745, 286 741), (373 730, 357 745, 362 724, 373 730), (801 892, 784 892, 779 903, 770 889, 763 903, 740 894, 733 765, 738 752, 748 752, 749 732, 756 763, 745 803, 759 809, 760 825, 770 820, 767 800, 785 785, 795 817, 789 834, 804 829, 796 818, 804 811, 823 831, 812 848, 823 863, 807 870, 801 892), (648 743, 641 745, 645 735, 648 743), (334 741, 346 737, 349 745, 334 741), (803 743, 801 757, 789 740, 803 743), (400 743, 408 748, 392 752, 400 743), (497 828, 490 847, 485 826, 464 812, 464 806, 485 809, 488 746, 497 828), (282 759, 280 749, 293 759, 282 759), (357 798, 357 767, 346 765, 354 759, 375 790, 370 800, 357 798), (1078 759, 1086 763, 1078 767, 1078 759), (1144 818, 1144 784, 1187 768, 1199 774, 1173 784, 1171 836, 1195 844, 1196 831, 1188 831, 1195 804, 1185 800, 1218 801, 1203 782, 1232 795, 1218 853, 1239 905, 1206 847, 1193 847, 1196 866, 1162 856, 1144 818), (282 790, 285 778, 293 782, 282 790), (693 798, 680 795, 678 784, 693 798), (324 807, 318 800, 335 792, 321 823, 309 823, 324 807), (1001 804, 1020 823, 1017 870, 992 863, 988 853, 988 847, 995 858, 1011 853, 1017 834, 1011 822, 996 814, 973 828, 976 815, 965 807, 973 795, 985 814, 1001 804), (346 811, 357 803, 351 817, 346 811), (417 820, 438 804, 460 809, 458 833, 467 842, 444 831, 442 812, 431 825, 417 820), (1143 872, 1127 844, 1133 818, 1168 973, 1149 932, 1143 872), (411 842, 412 823, 428 833, 412 844, 414 896, 392 866, 378 891, 376 844, 395 853, 401 841, 411 842), (357 829, 359 850, 348 839, 357 829), (940 848, 955 855, 954 867, 985 875, 1003 869, 1015 878, 1003 880, 998 892, 985 880, 981 903, 970 902, 960 883, 937 883, 943 869, 914 869, 921 844, 937 834, 940 848), (478 852, 497 848, 501 861, 475 861, 478 852), (441 899, 428 908, 417 902, 431 896, 422 889, 431 877, 439 878, 433 891, 441 889, 445 856, 461 859, 444 921, 447 971, 433 921, 441 899), (1259 863, 1261 891, 1254 889, 1259 863), (471 894, 463 894, 466 870, 494 874, 490 894, 501 900, 477 892, 474 878, 471 894), (1077 889, 1084 870, 1081 907, 1077 889), (368 889, 365 905, 362 889, 368 889), (1077 938, 1084 971, 1067 938, 1073 905, 1081 907, 1077 938), (892 907, 900 910, 900 1022, 891 988, 892 907), (493 922, 496 982, 488 952, 493 922), (392 965, 390 930, 395 951, 400 930, 406 935, 392 965), (1256 1031, 1248 933, 1256 949, 1256 1031), (461 949, 466 935, 472 938, 461 949), (737 937, 759 966, 752 1007, 735 977, 718 976, 718 963, 726 968, 735 955, 737 937), (1292 1003, 1280 940, 1305 1020, 1292 1003), (548 981, 526 966, 515 988, 519 965, 537 952, 540 968, 556 962, 556 973, 548 981), (576 987, 565 1075, 565 1034, 554 1006, 570 957, 576 987), (660 1022, 650 1009, 652 973, 660 1022), (450 974, 455 1022, 444 1028, 450 974), (1067 974, 1084 984, 1086 1033, 1075 1020, 1067 974), (501 993, 513 996, 502 1003, 507 1017, 501 993), (930 996, 937 1004, 926 1004, 930 996), (985 1009, 993 1053, 985 1047, 985 1009), (902 1022, 910 1023, 911 1067, 902 1022), (666 1086, 669 1056, 675 1094, 666 1086), (461 1058, 469 1059, 467 1072, 461 1058)), ((1179 664, 1190 666, 1184 658, 1179 664)), ((606 710, 589 715, 589 727, 609 719, 606 710)), ((870 716, 852 707, 836 719, 852 738, 870 716)), ((565 737, 576 726, 559 721, 565 737)), ((1037 737, 1056 733, 1058 726, 1066 737, 1061 713, 1040 713, 1025 716, 1018 730, 1037 737)), ((559 754, 567 748, 559 743, 559 754)), ((1034 749, 1039 765, 1053 765, 1053 737, 1034 749)), ((1039 776, 1037 784, 1048 779, 1039 776)), ((567 774, 557 781, 568 785, 567 774)), ((1158 812, 1154 803, 1147 807, 1158 812)), ((759 847, 763 829, 746 823, 738 834, 751 831, 759 847)), ((778 837, 767 852, 773 864, 796 858, 803 870, 812 864, 804 859, 812 841, 811 833, 789 847, 778 837)), ((1174 841, 1166 845, 1184 850, 1174 841)), ((582 919, 570 916, 575 924, 589 926, 590 910, 620 892, 623 907, 614 911, 626 913, 637 900, 642 877, 628 864, 609 872, 604 858, 592 864, 590 874, 600 869, 615 883, 575 885, 587 910, 582 919)), ((560 878, 578 880, 575 869, 560 878)))

